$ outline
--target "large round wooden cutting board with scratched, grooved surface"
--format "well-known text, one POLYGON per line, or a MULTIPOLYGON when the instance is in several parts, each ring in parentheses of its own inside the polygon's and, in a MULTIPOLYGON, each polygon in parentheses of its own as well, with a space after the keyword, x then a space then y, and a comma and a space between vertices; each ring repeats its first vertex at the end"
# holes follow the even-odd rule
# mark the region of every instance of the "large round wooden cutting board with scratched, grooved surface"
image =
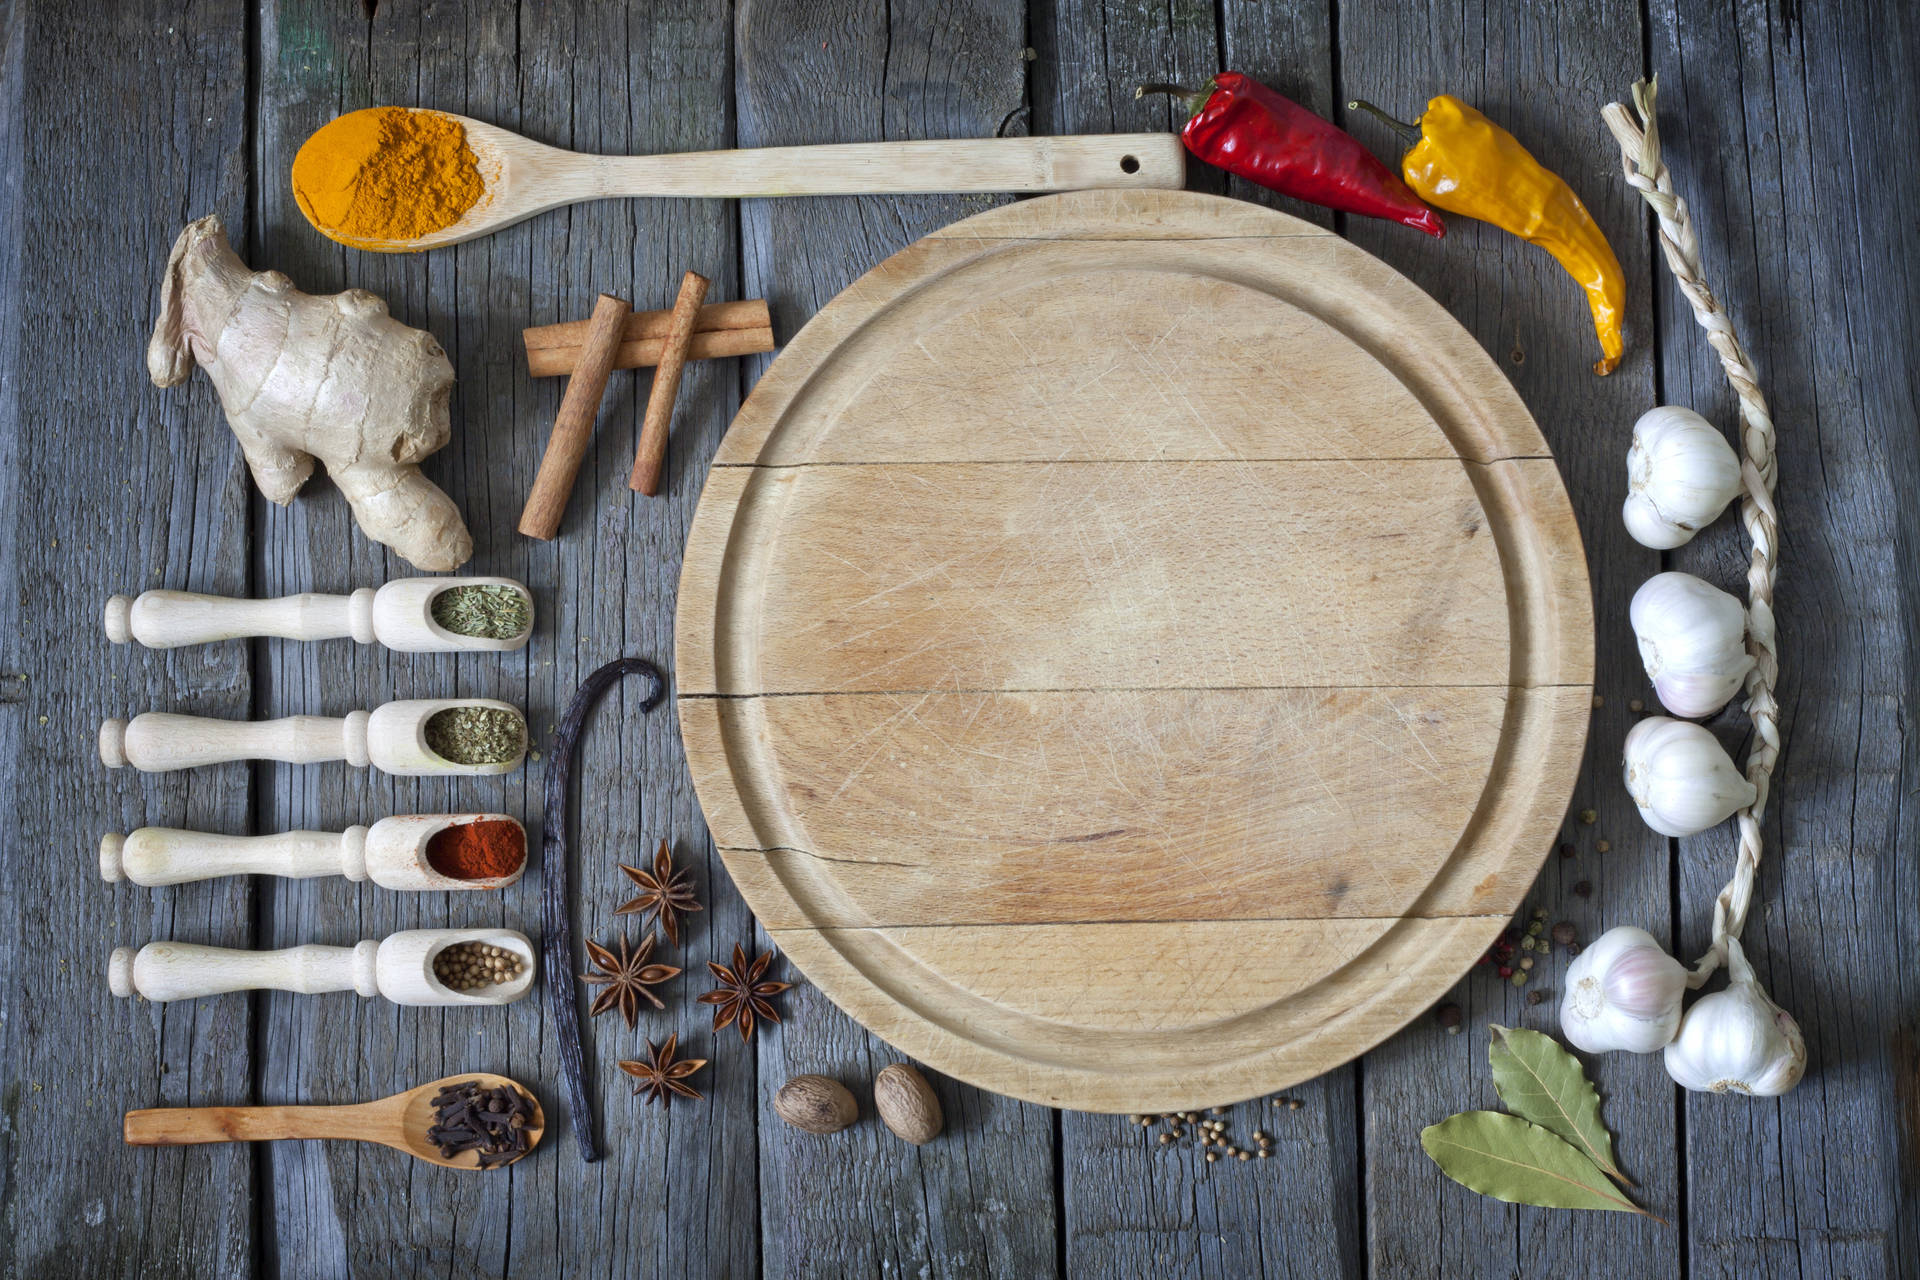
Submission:
POLYGON ((1348 1061, 1532 885, 1586 558, 1478 344, 1317 226, 1083 192, 887 259, 774 361, 680 580, 728 871, 931 1067, 1169 1111, 1348 1061))

